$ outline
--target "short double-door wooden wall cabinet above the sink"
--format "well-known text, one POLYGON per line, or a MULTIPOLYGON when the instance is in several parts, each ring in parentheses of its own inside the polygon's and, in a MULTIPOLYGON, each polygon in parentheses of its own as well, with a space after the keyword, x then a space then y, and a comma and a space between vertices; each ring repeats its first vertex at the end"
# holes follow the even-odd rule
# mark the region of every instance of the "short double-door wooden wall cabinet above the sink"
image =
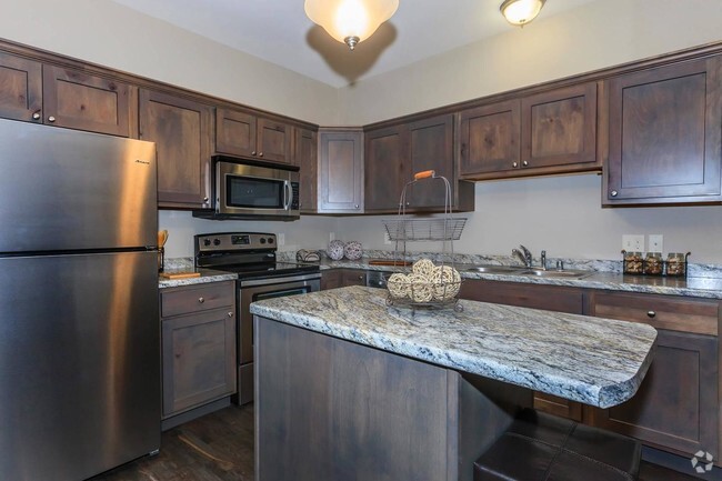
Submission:
POLYGON ((596 82, 543 91, 461 112, 462 179, 600 170, 596 82))

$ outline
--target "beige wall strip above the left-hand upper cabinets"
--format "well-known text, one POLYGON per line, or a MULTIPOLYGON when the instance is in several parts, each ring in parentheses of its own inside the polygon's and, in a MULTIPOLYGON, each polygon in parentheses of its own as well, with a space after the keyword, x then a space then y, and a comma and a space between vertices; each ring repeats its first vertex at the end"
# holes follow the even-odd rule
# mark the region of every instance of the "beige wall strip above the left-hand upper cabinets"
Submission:
POLYGON ((337 89, 109 0, 0 0, 0 37, 314 123, 337 89))

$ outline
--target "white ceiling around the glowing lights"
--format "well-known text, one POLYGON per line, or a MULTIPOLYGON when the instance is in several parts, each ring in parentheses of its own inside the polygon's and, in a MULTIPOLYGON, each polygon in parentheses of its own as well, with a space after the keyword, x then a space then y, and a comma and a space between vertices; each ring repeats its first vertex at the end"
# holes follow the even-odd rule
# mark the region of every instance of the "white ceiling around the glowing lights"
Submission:
MULTIPOLYGON (((352 52, 305 17, 303 0, 113 1, 333 87, 518 28, 499 13, 501 0, 400 0, 352 52)), ((534 21, 592 1, 603 0, 548 0, 534 21)))

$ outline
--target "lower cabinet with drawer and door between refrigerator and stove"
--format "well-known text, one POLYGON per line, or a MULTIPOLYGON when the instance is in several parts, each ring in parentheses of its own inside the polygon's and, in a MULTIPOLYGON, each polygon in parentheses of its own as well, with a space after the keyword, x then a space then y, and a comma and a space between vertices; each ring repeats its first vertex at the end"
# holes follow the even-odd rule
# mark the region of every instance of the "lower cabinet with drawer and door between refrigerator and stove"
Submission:
POLYGON ((235 283, 161 290, 163 419, 235 392, 235 283))

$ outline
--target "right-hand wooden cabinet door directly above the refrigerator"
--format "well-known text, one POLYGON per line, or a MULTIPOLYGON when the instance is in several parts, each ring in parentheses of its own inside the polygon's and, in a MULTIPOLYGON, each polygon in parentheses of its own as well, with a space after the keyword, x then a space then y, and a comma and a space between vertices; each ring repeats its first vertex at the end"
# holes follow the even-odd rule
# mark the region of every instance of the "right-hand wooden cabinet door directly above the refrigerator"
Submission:
POLYGON ((44 122, 111 136, 130 136, 130 87, 79 70, 42 68, 44 122))

